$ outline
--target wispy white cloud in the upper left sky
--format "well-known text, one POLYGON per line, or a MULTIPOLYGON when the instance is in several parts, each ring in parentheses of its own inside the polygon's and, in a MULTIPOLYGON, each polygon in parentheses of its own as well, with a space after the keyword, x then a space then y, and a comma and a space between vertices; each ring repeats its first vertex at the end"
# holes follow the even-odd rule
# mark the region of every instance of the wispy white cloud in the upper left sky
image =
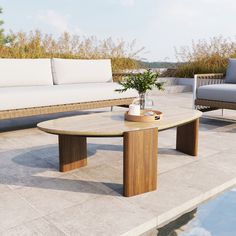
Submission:
POLYGON ((72 34, 83 34, 83 31, 78 26, 69 23, 67 15, 62 15, 55 10, 41 12, 37 18, 50 26, 56 33, 70 32, 72 34))

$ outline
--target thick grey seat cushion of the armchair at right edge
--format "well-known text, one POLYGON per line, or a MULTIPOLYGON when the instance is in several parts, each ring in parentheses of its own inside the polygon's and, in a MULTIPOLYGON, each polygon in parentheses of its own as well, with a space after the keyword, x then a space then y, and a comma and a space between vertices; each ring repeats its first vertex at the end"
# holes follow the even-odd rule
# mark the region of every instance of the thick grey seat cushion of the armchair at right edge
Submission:
POLYGON ((201 86, 197 90, 197 98, 222 102, 236 102, 236 84, 201 86))

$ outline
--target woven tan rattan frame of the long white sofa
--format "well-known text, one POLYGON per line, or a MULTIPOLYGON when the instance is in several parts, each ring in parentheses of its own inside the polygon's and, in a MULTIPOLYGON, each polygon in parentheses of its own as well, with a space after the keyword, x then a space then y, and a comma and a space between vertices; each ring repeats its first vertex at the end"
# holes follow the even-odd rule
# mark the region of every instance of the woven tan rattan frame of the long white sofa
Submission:
MULTIPOLYGON (((113 79, 117 81, 128 75, 130 75, 130 73, 113 74, 113 79)), ((134 98, 131 97, 131 98, 111 99, 111 100, 103 100, 95 102, 82 102, 82 103, 42 106, 42 107, 33 107, 24 109, 4 110, 0 111, 0 120, 37 116, 37 115, 47 115, 60 112, 70 112, 76 110, 103 108, 103 107, 128 106, 129 104, 132 103, 133 99, 134 98)))

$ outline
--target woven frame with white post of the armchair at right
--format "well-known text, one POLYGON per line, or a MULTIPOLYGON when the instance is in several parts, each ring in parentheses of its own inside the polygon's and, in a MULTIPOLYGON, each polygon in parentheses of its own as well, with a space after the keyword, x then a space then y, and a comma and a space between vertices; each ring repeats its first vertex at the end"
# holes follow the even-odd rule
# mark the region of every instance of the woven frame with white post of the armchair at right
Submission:
POLYGON ((197 89, 200 86, 208 84, 222 84, 225 78, 221 73, 218 74, 196 74, 194 76, 194 106, 196 109, 201 111, 210 111, 216 109, 231 109, 236 110, 236 102, 223 102, 206 99, 197 99, 197 89))

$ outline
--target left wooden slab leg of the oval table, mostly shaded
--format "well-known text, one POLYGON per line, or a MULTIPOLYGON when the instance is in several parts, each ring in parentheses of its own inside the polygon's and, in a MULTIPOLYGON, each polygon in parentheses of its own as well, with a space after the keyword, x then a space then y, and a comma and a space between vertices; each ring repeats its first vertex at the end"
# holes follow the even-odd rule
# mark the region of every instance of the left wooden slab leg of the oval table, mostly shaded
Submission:
POLYGON ((61 172, 87 165, 86 137, 59 135, 59 168, 61 172))

